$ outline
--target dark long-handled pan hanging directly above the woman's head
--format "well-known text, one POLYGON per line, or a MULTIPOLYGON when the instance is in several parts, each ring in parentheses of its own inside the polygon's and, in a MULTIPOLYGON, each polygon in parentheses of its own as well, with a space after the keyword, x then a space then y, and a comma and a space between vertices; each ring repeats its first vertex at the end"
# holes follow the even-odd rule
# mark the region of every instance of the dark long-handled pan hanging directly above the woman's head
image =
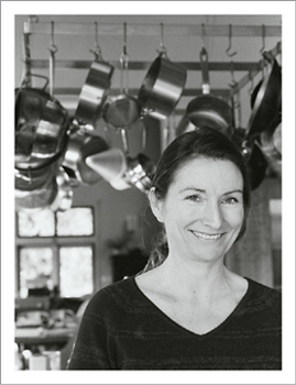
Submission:
POLYGON ((205 47, 200 51, 202 74, 202 95, 189 102, 186 109, 188 120, 197 128, 209 127, 232 135, 232 109, 220 98, 210 95, 208 54, 205 47))

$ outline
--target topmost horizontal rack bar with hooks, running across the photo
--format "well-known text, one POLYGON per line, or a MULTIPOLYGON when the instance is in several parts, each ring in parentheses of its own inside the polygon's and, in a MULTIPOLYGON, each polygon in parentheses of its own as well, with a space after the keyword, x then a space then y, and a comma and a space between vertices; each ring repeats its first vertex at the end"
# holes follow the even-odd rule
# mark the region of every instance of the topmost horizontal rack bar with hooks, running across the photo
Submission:
MULTIPOLYGON (((160 34, 158 24, 128 24, 127 34, 138 36, 156 36, 160 34)), ((264 25, 265 37, 282 36, 281 25, 264 25)), ((25 21, 23 32, 29 34, 51 34, 51 22, 25 21)), ((229 25, 205 25, 207 36, 229 36, 229 25)), ((122 36, 123 24, 98 23, 99 35, 122 36)), ((167 35, 202 36, 202 25, 164 24, 167 35)), ((94 35, 94 23, 58 23, 55 22, 55 34, 62 35, 94 35)), ((262 25, 232 25, 232 36, 262 36, 262 25)))

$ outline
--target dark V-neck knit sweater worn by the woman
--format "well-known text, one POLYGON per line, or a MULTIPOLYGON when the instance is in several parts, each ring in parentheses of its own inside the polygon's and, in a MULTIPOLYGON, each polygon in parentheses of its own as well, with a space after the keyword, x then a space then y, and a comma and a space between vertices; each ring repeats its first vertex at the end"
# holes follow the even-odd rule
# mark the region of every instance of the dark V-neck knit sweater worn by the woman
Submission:
POLYGON ((281 370, 281 294, 246 279, 237 308, 205 334, 168 318, 134 277, 102 288, 86 309, 68 370, 281 370))

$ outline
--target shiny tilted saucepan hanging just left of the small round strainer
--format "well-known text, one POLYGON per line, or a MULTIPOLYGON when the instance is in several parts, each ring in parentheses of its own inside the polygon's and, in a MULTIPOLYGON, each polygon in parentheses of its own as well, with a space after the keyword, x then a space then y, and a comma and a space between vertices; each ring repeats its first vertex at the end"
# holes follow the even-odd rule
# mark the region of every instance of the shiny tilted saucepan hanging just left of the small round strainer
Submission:
POLYGON ((106 62, 94 61, 86 82, 81 88, 75 118, 81 124, 95 125, 101 116, 107 99, 114 67, 106 62))

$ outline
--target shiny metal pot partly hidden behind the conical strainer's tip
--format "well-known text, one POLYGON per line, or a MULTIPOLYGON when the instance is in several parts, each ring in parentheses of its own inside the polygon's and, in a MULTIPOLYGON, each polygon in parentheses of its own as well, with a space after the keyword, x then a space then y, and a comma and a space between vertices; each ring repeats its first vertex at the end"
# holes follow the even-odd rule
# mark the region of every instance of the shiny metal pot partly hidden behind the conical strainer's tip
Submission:
POLYGON ((73 128, 62 165, 73 169, 79 183, 95 184, 101 177, 86 164, 86 158, 108 148, 107 142, 101 136, 87 130, 73 128))

